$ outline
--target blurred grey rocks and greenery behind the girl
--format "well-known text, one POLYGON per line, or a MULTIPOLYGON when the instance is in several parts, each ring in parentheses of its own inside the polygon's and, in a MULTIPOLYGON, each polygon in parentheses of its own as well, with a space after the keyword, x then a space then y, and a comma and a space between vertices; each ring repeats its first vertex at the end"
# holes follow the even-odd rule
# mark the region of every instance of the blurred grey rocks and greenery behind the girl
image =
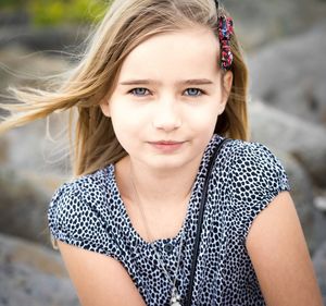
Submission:
MULTIPOLYGON (((326 1, 223 3, 250 68, 252 140, 286 167, 326 304, 326 1)), ((68 69, 105 5, 1 0, 1 101, 9 85, 37 85, 35 76, 68 69)), ((54 189, 70 178, 66 144, 55 140, 63 122, 51 117, 50 131, 37 121, 0 138, 0 306, 78 305, 51 249, 46 216, 54 189)))

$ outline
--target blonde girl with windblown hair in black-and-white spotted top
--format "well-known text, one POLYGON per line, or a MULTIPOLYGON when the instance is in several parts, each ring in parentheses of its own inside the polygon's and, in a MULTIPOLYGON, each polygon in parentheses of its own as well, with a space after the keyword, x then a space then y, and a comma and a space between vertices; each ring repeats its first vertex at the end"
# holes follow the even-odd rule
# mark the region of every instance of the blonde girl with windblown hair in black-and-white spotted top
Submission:
POLYGON ((217 2, 116 0, 66 82, 15 95, 2 132, 77 111, 78 178, 48 217, 83 305, 322 305, 284 168, 246 142, 247 69, 217 2))

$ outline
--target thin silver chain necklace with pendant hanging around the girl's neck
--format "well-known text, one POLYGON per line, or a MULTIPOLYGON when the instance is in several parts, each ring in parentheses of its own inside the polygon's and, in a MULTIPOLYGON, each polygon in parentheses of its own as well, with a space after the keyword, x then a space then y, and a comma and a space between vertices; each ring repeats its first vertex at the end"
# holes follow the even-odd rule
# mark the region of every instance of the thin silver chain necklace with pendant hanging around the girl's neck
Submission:
MULTIPOLYGON (((130 171, 130 173, 133 173, 133 171, 130 171)), ((137 198, 137 204, 138 204, 139 210, 140 210, 140 215, 141 215, 141 218, 142 218, 142 222, 143 222, 143 225, 145 225, 145 229, 146 229, 147 236, 148 236, 149 241, 152 241, 148 224, 146 222, 143 208, 140 204, 139 194, 138 194, 138 191, 135 186, 134 175, 131 174, 130 178, 131 178, 131 184, 133 184, 133 188, 134 188, 134 198, 135 199, 137 198)), ((184 220, 184 222, 185 222, 185 220, 184 220)), ((183 229, 184 229, 184 223, 183 223, 183 229)), ((168 281, 172 284, 172 296, 171 296, 171 299, 170 299, 170 305, 171 306, 181 306, 181 296, 178 293, 178 290, 176 287, 176 280, 177 280, 177 273, 178 273, 178 270, 179 270, 179 265, 180 265, 180 259, 181 259, 181 247, 183 247, 183 244, 184 244, 184 237, 185 237, 185 229, 183 230, 183 235, 181 235, 181 240, 180 240, 180 244, 179 244, 178 261, 177 261, 177 268, 176 268, 176 271, 175 271, 174 279, 172 279, 172 277, 166 271, 166 268, 165 268, 165 265, 162 260, 160 252, 156 249, 156 247, 152 243, 150 243, 150 246, 154 250, 154 254, 156 256, 156 259, 158 259, 163 272, 165 273, 166 278, 168 279, 168 281)))

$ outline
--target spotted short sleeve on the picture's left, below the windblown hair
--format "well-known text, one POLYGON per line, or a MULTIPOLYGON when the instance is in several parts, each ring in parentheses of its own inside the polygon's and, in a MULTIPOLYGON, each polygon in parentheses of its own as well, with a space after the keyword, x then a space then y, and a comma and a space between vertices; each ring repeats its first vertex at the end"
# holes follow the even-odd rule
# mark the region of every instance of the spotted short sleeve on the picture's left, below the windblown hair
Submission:
MULTIPOLYGON (((51 237, 88 250, 112 255, 114 241, 105 227, 103 211, 93 200, 96 188, 77 182, 62 185, 48 209, 51 237)), ((101 200, 100 196, 97 196, 101 200)), ((103 199, 102 199, 103 200, 103 199)))

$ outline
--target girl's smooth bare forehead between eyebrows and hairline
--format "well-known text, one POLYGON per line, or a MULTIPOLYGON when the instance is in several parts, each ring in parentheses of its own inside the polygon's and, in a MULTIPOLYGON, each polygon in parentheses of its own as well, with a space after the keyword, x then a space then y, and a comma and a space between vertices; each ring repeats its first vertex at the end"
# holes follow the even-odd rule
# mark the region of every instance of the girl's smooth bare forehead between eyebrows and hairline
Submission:
POLYGON ((218 72, 218 39, 211 29, 195 27, 155 35, 125 59, 120 81, 151 77, 213 77, 218 72))

